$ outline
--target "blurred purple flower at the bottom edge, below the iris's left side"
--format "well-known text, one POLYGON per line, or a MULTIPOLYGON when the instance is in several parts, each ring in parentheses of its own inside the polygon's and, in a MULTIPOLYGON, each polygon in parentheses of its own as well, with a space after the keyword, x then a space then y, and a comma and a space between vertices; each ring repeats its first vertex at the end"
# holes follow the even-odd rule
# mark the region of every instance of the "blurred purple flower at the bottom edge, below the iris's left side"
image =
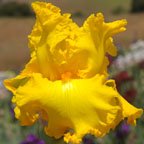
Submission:
POLYGON ((40 140, 37 136, 30 134, 20 144, 45 144, 45 142, 43 140, 40 140))

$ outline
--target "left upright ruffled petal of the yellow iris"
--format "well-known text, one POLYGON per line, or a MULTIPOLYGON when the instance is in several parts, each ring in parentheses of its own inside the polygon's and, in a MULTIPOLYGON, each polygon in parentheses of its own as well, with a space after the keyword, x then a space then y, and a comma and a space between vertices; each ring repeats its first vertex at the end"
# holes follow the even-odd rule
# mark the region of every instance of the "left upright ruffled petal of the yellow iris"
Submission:
POLYGON ((32 6, 37 19, 29 35, 29 46, 36 53, 41 73, 50 80, 60 79, 76 51, 71 39, 72 31, 79 31, 78 26, 69 18, 70 14, 61 15, 50 3, 36 2, 32 6))

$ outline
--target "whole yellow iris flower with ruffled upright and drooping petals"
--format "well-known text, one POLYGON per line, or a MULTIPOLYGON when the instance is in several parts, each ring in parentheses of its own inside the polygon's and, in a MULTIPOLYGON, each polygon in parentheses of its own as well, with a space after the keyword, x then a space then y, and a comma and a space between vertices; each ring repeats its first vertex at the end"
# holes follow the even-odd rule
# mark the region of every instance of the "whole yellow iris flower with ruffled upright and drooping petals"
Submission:
POLYGON ((125 101, 114 80, 107 79, 106 53, 116 55, 112 36, 125 30, 126 20, 105 23, 98 13, 79 27, 50 3, 32 7, 31 60, 20 75, 5 80, 21 125, 40 118, 47 122, 47 135, 79 144, 85 134, 104 136, 124 118, 135 124, 142 110, 125 101))

